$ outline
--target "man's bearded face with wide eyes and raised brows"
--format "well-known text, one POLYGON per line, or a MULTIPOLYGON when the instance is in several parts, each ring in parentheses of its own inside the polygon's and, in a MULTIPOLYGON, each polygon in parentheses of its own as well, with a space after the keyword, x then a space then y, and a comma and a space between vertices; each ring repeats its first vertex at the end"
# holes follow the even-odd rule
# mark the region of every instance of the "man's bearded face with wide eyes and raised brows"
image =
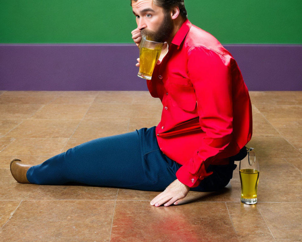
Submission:
POLYGON ((153 0, 132 1, 132 10, 142 36, 157 42, 168 40, 173 30, 169 12, 155 5, 153 0))

